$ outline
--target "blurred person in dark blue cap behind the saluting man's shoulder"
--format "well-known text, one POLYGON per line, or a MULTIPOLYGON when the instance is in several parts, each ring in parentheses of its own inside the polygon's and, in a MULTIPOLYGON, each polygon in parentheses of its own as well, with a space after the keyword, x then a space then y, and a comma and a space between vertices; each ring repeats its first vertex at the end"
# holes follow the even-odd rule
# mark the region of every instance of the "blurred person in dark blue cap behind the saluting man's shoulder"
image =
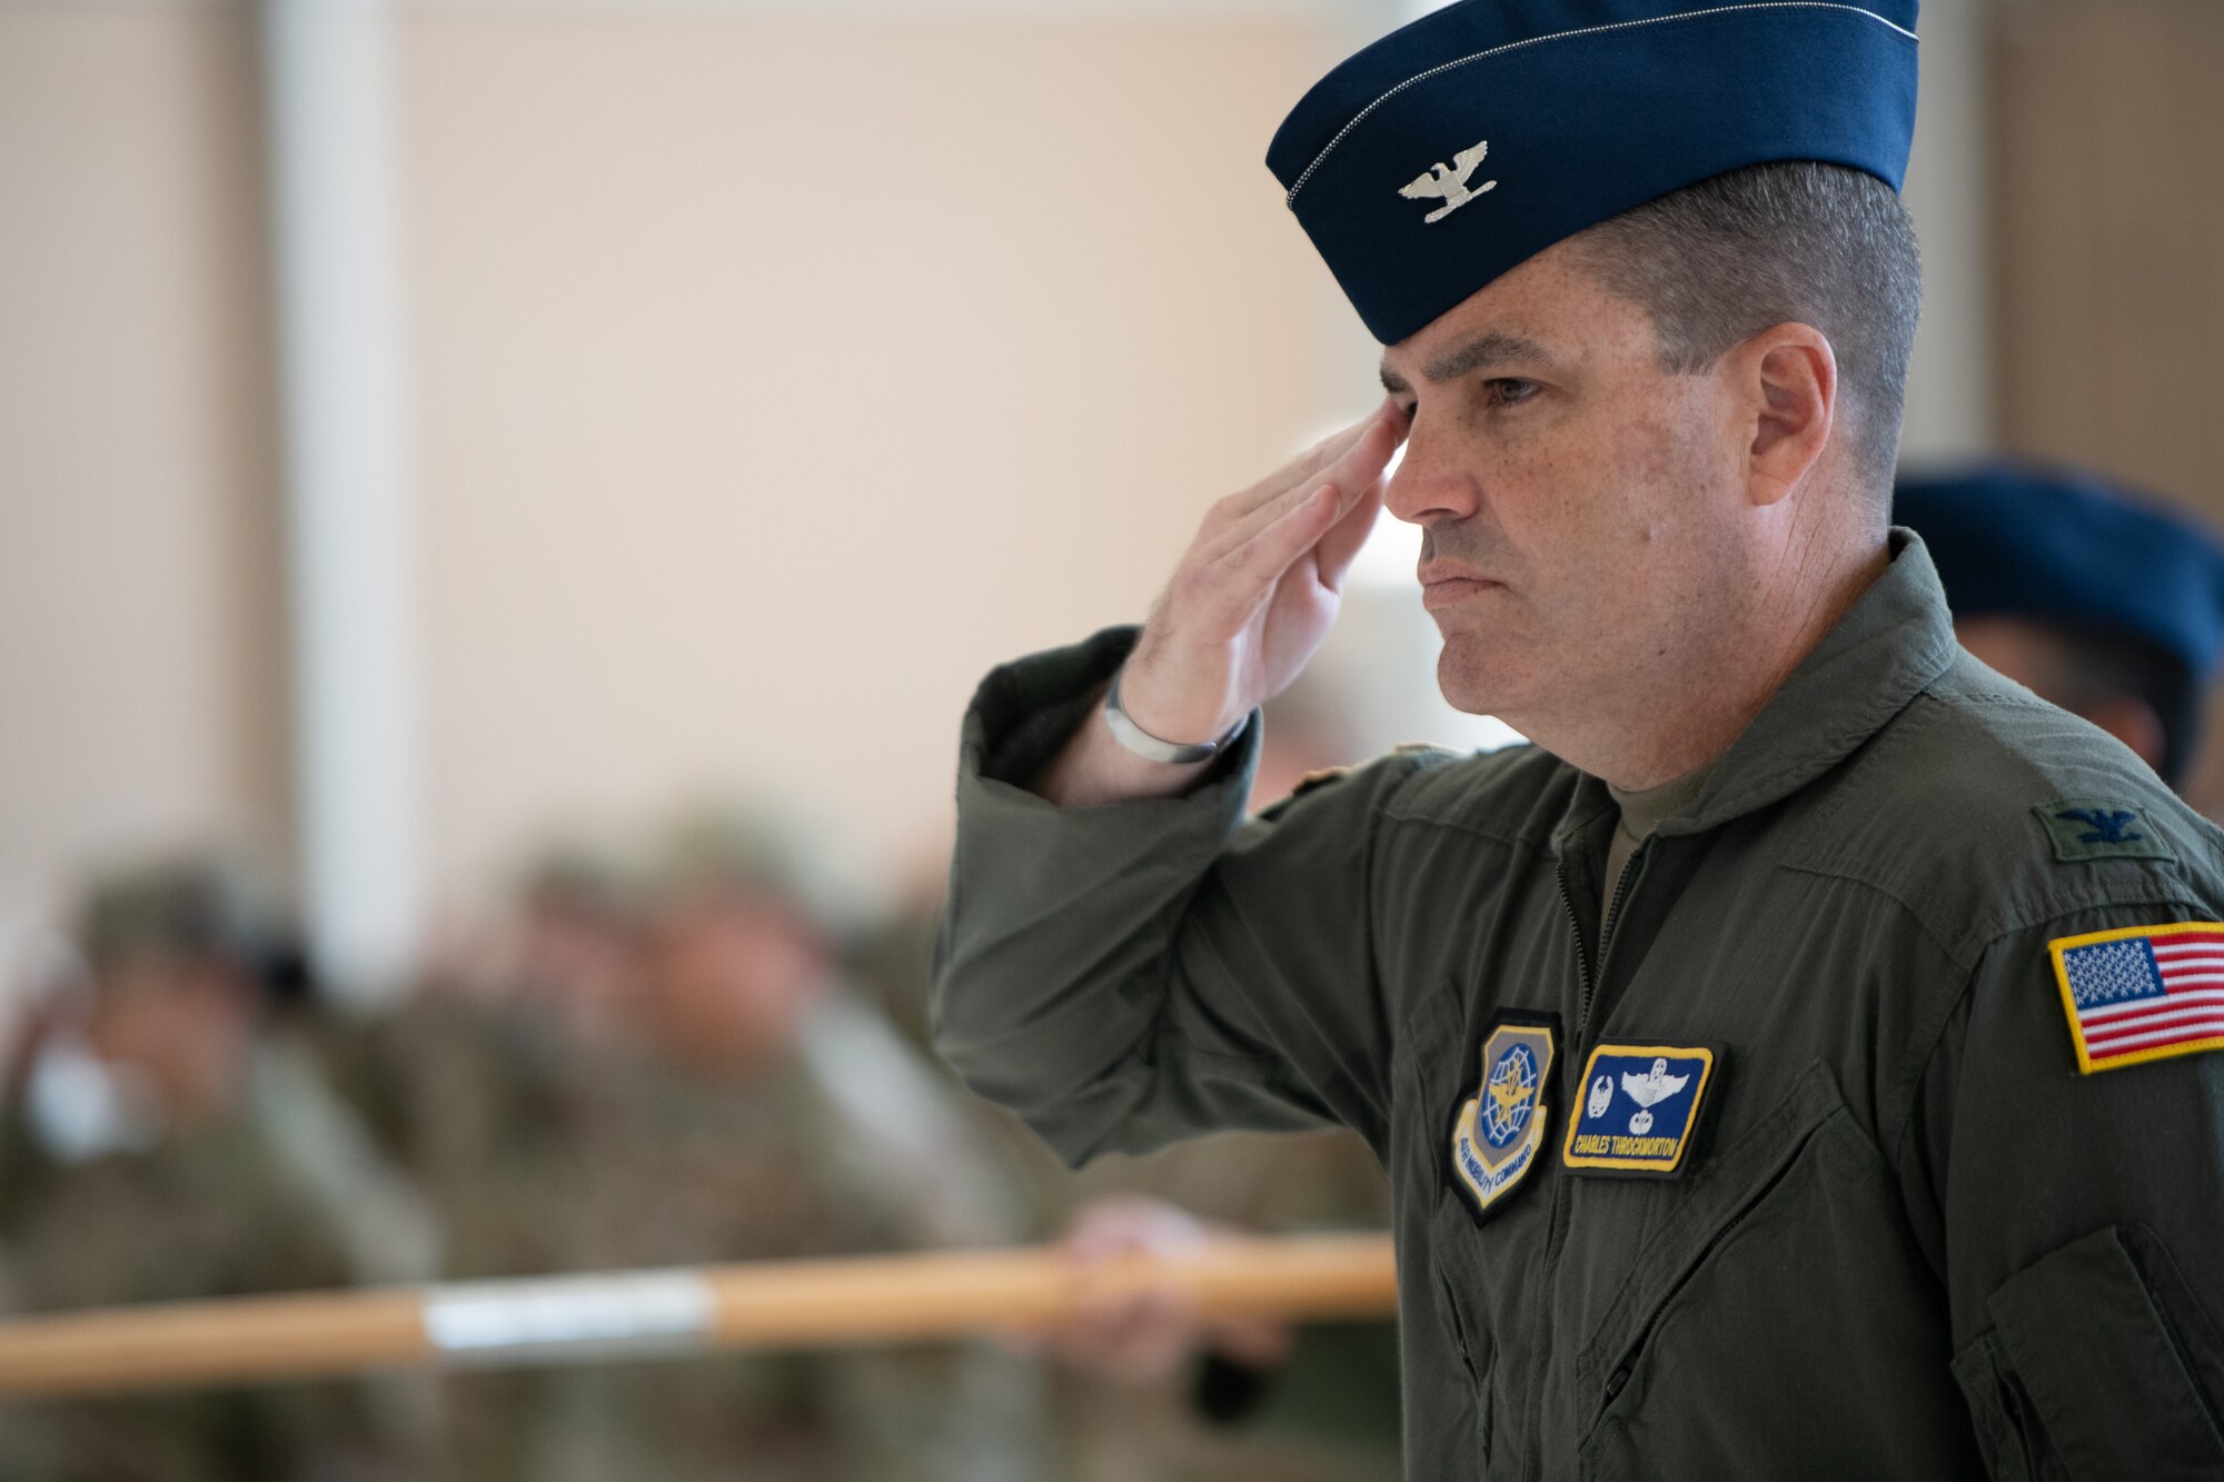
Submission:
POLYGON ((1904 472, 1955 636, 2184 790, 2224 652, 2224 547, 2095 474, 1995 461, 1904 472))

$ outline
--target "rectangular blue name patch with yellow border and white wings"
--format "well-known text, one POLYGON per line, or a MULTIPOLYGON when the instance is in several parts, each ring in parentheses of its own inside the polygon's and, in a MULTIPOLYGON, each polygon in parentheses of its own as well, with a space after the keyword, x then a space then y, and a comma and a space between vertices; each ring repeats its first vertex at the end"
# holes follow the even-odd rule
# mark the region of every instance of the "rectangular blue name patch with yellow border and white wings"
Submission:
POLYGON ((1677 1177, 1721 1053, 1699 1044, 1601 1044, 1583 1066, 1561 1166, 1575 1173, 1677 1177))

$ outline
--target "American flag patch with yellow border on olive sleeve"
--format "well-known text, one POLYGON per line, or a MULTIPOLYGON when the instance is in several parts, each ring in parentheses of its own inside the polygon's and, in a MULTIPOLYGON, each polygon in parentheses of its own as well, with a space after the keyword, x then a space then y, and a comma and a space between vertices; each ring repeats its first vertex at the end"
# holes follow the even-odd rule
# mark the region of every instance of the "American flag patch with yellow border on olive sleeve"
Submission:
POLYGON ((2079 1073, 2224 1048, 2224 921, 2133 926, 2046 948, 2079 1073))

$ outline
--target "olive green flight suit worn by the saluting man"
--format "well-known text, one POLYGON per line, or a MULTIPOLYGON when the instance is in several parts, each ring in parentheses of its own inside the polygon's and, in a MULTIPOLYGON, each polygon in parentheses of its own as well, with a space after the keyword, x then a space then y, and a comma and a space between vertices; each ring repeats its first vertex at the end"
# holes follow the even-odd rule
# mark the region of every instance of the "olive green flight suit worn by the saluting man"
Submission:
POLYGON ((2224 834, 1953 639, 1922 543, 1641 846, 1604 783, 1399 752, 1245 821, 1023 790, 1130 632, 965 721, 936 1033, 1072 1162, 1343 1122, 1397 1195, 1410 1478, 2217 1478, 2224 1055, 2079 1075, 2048 941, 2215 921, 2224 834), (2066 799, 2144 814, 2084 848, 2066 799), (1543 1155, 1450 1133, 1557 1021, 1543 1155), (1675 1177, 1563 1166, 1592 1046, 1721 1046, 1675 1177))

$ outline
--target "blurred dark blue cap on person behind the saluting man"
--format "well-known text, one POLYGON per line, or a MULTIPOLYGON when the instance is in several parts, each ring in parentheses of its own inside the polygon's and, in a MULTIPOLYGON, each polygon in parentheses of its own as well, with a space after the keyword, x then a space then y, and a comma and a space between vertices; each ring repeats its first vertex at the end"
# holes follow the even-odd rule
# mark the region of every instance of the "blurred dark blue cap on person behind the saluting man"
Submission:
POLYGON ((1955 616, 2133 634, 2195 681, 2224 654, 2215 536, 2099 478, 2013 463, 1904 474, 1893 518, 1924 539, 1955 616))

